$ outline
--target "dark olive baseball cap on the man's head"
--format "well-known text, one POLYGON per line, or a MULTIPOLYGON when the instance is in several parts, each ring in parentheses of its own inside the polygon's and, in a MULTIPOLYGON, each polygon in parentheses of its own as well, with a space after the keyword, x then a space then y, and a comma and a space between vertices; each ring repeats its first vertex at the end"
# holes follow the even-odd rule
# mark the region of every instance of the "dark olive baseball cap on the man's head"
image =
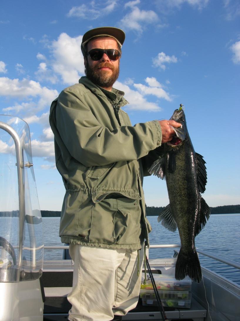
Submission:
POLYGON ((108 36, 114 38, 117 43, 119 44, 120 48, 122 48, 122 45, 125 40, 125 32, 122 29, 115 28, 115 27, 100 27, 100 28, 94 28, 83 35, 83 40, 81 44, 81 50, 84 55, 84 48, 85 45, 88 43, 89 40, 91 40, 94 37, 98 36, 108 36))

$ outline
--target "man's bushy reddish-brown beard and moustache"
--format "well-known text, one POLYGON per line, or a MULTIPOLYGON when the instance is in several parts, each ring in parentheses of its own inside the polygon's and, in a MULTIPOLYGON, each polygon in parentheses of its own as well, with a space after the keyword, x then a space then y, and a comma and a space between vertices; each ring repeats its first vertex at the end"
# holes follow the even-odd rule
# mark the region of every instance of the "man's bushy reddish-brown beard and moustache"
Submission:
POLYGON ((88 61, 86 61, 85 65, 85 75, 96 85, 109 88, 112 87, 114 82, 116 82, 119 75, 119 64, 117 67, 109 64, 108 62, 100 62, 98 65, 94 67, 90 67, 88 61), (99 68, 108 67, 112 70, 112 74, 108 75, 107 71, 100 70, 99 68))

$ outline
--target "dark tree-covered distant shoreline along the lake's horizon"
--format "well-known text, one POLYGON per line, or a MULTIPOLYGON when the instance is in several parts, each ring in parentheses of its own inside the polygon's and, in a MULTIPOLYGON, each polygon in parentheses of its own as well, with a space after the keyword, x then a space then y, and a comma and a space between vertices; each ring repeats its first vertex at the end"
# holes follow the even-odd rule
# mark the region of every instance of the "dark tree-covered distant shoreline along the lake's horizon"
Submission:
MULTIPOLYGON (((155 207, 155 206, 146 206, 147 216, 157 216, 164 210, 164 206, 155 207)), ((224 205, 224 206, 216 206, 210 207, 211 214, 238 214, 240 213, 240 205, 224 205)), ((33 211, 34 213, 34 211, 33 211)), ((60 217, 60 211, 41 211, 42 217, 60 217)), ((17 217, 19 215, 19 211, 12 212, 0 212, 0 217, 17 217)))

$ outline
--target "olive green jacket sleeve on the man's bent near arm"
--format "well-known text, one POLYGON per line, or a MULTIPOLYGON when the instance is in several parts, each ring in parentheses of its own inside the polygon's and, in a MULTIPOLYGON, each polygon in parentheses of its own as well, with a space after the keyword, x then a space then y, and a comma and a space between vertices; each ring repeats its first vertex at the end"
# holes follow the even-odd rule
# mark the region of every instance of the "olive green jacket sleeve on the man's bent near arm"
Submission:
POLYGON ((55 122, 68 152, 87 167, 139 159, 158 147, 162 139, 156 120, 110 131, 79 97, 68 91, 62 91, 58 98, 55 122))

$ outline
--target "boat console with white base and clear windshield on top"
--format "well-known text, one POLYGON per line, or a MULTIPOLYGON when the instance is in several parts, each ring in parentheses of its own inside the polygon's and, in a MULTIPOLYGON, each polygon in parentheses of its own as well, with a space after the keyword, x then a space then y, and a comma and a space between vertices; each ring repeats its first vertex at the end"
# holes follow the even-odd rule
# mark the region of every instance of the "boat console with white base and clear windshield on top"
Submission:
POLYGON ((0 116, 0 321, 42 321, 43 227, 30 132, 0 116))

